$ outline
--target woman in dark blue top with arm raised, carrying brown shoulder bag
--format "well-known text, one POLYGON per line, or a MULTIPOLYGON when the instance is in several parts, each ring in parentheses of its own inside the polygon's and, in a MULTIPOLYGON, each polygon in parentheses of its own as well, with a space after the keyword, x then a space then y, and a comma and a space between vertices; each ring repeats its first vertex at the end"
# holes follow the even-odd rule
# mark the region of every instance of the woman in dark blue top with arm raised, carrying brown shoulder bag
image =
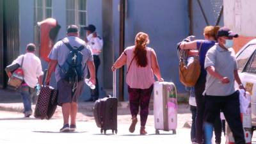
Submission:
MULTIPOLYGON (((215 45, 217 40, 217 32, 220 29, 219 26, 206 26, 204 28, 205 40, 194 40, 192 42, 182 42, 180 49, 190 49, 189 56, 199 55, 200 61, 200 76, 195 84, 195 98, 196 98, 196 142, 204 143, 204 132, 203 132, 203 120, 205 111, 205 100, 203 92, 205 90, 206 75, 207 72, 204 68, 206 52, 215 45), (197 52, 195 52, 197 51, 197 52)), ((220 117, 216 118, 216 124, 214 127, 216 135, 216 143, 221 143, 221 123, 220 117)))

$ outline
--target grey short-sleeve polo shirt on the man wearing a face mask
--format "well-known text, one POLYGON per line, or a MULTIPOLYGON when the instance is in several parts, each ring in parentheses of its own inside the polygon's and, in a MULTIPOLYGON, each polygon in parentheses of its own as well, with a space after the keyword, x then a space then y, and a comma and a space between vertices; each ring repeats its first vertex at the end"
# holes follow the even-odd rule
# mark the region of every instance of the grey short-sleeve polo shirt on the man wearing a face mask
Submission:
POLYGON ((223 49, 219 44, 214 45, 206 54, 204 67, 213 66, 223 77, 228 77, 230 83, 223 84, 220 79, 207 74, 205 83, 205 94, 214 96, 227 96, 235 92, 234 70, 237 70, 234 49, 223 49))

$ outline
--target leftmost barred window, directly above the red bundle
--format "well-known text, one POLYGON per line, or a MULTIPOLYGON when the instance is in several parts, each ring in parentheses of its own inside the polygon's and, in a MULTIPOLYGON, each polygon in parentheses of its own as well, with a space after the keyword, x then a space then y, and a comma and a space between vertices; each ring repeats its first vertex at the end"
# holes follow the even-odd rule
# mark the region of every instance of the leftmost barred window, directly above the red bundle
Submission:
POLYGON ((35 25, 49 17, 52 17, 52 0, 35 0, 35 25))

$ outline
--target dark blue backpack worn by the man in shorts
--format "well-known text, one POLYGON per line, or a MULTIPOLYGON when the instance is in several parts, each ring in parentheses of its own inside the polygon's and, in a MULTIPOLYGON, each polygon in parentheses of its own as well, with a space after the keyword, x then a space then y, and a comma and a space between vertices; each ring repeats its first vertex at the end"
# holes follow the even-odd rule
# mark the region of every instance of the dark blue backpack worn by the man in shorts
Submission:
POLYGON ((77 84, 77 82, 83 80, 84 78, 84 67, 83 63, 83 53, 81 52, 84 49, 84 45, 80 47, 72 47, 66 38, 61 40, 63 44, 69 49, 67 59, 63 65, 59 65, 61 68, 60 76, 61 79, 65 79, 70 84, 77 84))

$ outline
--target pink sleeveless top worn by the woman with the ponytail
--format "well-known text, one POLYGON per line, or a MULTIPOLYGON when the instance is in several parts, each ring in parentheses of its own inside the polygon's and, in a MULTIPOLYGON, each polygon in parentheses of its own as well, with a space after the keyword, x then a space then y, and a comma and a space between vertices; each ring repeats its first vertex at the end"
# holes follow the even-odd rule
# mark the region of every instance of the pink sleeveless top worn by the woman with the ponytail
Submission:
POLYGON ((136 64, 136 60, 134 59, 132 61, 132 58, 134 58, 134 46, 127 47, 124 52, 127 54, 127 70, 129 68, 129 65, 131 64, 130 70, 126 75, 126 83, 131 88, 140 88, 140 89, 147 89, 152 86, 152 84, 155 82, 153 70, 151 68, 151 51, 154 51, 154 49, 151 49, 150 47, 147 47, 147 59, 148 59, 148 65, 146 67, 138 67, 136 64), (132 61, 132 63, 131 63, 132 61))

